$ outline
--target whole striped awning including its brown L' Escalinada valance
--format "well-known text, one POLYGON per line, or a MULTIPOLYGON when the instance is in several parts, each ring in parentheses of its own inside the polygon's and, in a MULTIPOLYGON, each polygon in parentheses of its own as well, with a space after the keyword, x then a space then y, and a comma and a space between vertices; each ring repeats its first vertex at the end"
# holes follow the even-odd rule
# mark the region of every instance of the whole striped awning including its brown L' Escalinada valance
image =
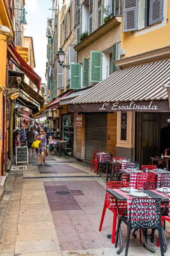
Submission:
POLYGON ((70 112, 169 112, 170 60, 117 70, 69 102, 70 112))

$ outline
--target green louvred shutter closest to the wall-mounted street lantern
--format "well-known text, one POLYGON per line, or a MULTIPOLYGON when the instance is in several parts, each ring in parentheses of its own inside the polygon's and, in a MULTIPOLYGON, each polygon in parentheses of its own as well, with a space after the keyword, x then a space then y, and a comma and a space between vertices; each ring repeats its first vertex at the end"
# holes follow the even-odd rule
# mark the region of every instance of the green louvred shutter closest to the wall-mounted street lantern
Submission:
POLYGON ((80 89, 80 63, 70 65, 70 89, 80 89))

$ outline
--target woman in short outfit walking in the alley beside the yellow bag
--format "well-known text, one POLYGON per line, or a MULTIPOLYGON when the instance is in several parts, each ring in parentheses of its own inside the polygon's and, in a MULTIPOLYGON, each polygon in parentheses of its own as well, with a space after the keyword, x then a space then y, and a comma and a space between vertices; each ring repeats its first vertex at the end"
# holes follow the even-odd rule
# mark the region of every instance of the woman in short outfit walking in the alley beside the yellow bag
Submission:
POLYGON ((46 134, 42 128, 39 131, 39 135, 36 135, 36 139, 41 141, 39 143, 39 147, 36 150, 38 153, 38 165, 41 166, 43 165, 42 160, 44 164, 46 164, 46 134))

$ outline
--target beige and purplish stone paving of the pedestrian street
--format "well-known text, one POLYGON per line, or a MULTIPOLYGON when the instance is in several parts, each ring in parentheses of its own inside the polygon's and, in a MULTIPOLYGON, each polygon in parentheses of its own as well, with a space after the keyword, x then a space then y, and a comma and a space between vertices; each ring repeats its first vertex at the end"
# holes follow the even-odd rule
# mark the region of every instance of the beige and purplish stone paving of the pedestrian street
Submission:
MULTIPOLYGON (((5 216, 0 219, 0 255, 117 255, 107 238, 112 230, 110 211, 106 212, 103 230, 98 231, 105 178, 97 177, 90 172, 89 165, 71 158, 50 156, 46 160, 46 166, 39 167, 37 160, 30 157, 29 170, 8 175, 6 193, 0 203, 1 216, 5 216)), ((125 241, 125 227, 123 237, 125 241)), ((167 238, 169 243, 168 232, 167 238)), ((157 234, 152 246, 158 256, 156 243, 157 234)), ((125 250, 121 255, 124 253, 125 250)), ((139 244, 138 237, 131 237, 129 255, 143 253, 153 255, 139 244)))

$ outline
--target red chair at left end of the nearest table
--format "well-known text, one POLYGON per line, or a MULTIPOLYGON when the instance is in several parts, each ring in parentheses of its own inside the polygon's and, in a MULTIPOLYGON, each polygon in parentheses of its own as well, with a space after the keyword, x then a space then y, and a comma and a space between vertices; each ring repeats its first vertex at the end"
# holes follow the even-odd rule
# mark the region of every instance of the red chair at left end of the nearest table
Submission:
MULTIPOLYGON (((129 182, 127 182, 127 181, 108 181, 106 183, 106 189, 113 189, 113 188, 119 189, 119 188, 127 188, 127 187, 129 187, 129 182)), ((115 198, 113 196, 111 196, 110 193, 108 193, 107 191, 106 191, 99 231, 101 231, 101 228, 103 226, 103 220, 104 220, 104 216, 106 214, 106 209, 109 209, 110 211, 113 212, 113 229, 112 229, 111 243, 114 244, 115 243, 115 233, 116 233, 116 228, 117 228, 117 208, 116 208, 116 204, 115 204, 115 198)), ((127 203, 118 202, 119 214, 123 214, 124 209, 127 209, 127 203)))

